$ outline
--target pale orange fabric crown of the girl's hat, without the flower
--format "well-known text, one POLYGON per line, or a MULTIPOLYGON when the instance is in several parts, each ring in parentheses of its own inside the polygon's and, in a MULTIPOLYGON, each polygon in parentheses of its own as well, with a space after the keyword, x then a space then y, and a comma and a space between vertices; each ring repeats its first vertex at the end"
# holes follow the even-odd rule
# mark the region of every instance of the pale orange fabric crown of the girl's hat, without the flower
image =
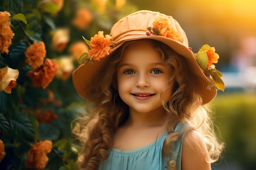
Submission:
POLYGON ((155 21, 156 17, 168 19, 170 28, 177 31, 177 33, 180 35, 180 38, 183 40, 183 42, 180 43, 186 47, 189 46, 186 33, 183 31, 180 24, 175 19, 173 19, 172 16, 146 10, 137 11, 116 22, 110 31, 112 40, 114 42, 120 42, 139 36, 145 36, 147 28, 153 27, 153 22, 155 21))

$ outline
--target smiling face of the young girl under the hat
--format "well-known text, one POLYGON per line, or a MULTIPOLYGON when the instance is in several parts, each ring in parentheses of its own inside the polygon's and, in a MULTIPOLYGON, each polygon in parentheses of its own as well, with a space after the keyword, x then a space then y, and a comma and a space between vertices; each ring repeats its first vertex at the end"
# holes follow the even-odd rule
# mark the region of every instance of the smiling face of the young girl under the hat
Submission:
POLYGON ((156 112, 171 96, 170 70, 148 41, 126 47, 118 64, 117 84, 121 99, 130 111, 156 112))

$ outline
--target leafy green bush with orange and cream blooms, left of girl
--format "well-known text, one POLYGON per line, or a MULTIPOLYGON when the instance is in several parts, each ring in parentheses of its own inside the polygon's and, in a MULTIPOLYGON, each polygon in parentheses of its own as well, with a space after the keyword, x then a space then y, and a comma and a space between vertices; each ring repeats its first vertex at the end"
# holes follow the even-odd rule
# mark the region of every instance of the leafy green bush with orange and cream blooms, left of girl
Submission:
POLYGON ((85 101, 71 74, 89 50, 82 35, 137 10, 99 2, 0 1, 0 170, 78 169, 71 125, 85 101))

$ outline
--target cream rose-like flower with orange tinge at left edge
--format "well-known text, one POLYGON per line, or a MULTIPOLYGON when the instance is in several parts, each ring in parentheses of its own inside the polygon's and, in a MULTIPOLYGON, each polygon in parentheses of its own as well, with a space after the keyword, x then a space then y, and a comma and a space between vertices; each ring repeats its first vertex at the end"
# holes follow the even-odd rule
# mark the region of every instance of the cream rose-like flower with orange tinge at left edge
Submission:
POLYGON ((11 88, 16 86, 16 79, 19 76, 17 69, 7 67, 0 68, 0 91, 11 93, 11 88))

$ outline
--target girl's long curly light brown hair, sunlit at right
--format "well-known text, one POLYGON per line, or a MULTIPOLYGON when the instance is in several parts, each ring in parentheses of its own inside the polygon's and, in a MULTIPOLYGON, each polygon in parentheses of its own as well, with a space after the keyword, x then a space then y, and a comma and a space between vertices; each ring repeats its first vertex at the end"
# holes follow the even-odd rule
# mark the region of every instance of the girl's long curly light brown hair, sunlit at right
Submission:
MULTIPOLYGON (((172 95, 167 103, 163 103, 166 110, 166 121, 164 126, 168 136, 164 141, 162 155, 167 163, 168 155, 175 141, 186 130, 196 129, 202 135, 207 145, 210 162, 217 161, 220 157, 223 145, 217 140, 207 105, 203 105, 200 92, 196 88, 196 82, 191 77, 189 63, 185 57, 177 54, 166 44, 156 40, 133 40, 124 43, 114 53, 110 54, 109 62, 101 68, 100 74, 95 82, 95 98, 98 103, 90 105, 91 111, 88 115, 79 117, 79 130, 74 132, 83 145, 79 157, 81 170, 96 170, 99 163, 108 157, 108 150, 111 148, 112 136, 117 128, 123 124, 129 116, 128 106, 121 100, 117 91, 118 62, 127 46, 141 41, 150 41, 152 46, 162 55, 162 60, 170 69, 172 75, 169 79, 169 87, 173 88, 172 95), (187 122, 189 126, 180 134, 174 132, 178 122, 187 122)), ((77 129, 77 128, 76 128, 77 129)), ((168 163, 169 170, 176 170, 175 164, 168 163)))

